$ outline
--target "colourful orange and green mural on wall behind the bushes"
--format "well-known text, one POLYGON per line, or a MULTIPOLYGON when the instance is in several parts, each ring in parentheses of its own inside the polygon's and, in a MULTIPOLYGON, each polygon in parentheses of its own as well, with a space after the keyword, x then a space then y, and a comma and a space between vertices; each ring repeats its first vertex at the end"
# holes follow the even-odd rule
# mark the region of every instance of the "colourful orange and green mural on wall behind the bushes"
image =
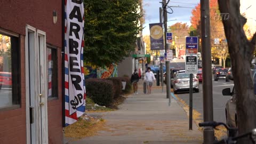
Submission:
POLYGON ((113 63, 109 67, 98 68, 97 77, 98 78, 117 77, 117 65, 113 63))

